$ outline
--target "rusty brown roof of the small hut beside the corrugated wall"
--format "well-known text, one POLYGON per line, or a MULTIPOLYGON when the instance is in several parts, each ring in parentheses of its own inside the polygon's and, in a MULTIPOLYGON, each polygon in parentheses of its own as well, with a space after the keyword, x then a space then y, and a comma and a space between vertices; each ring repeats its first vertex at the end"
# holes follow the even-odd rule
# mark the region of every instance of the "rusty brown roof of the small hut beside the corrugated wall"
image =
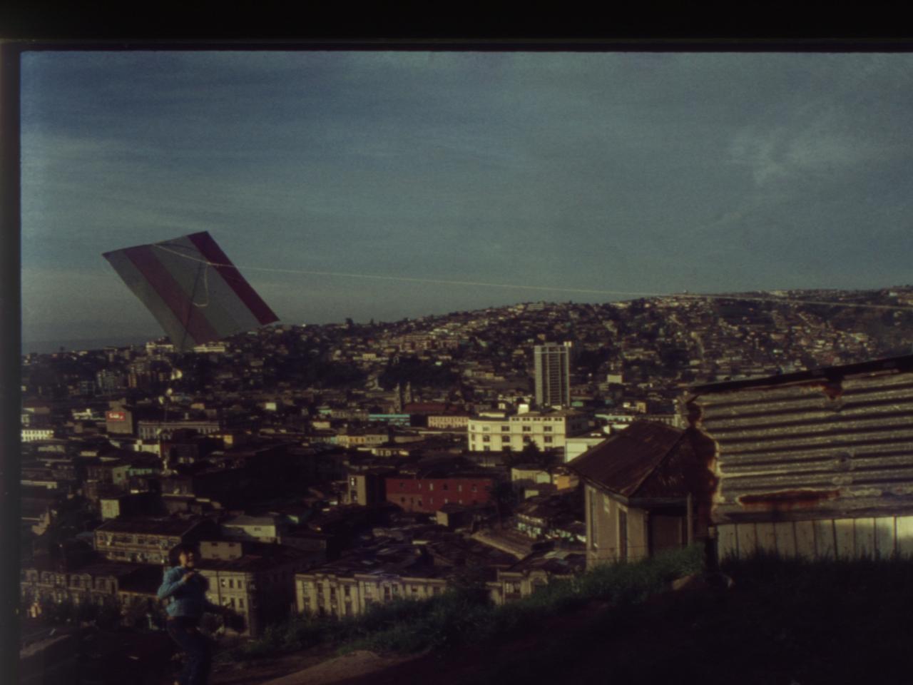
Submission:
POLYGON ((568 467, 594 485, 626 498, 685 496, 681 469, 666 469, 665 464, 680 451, 677 448, 684 435, 685 431, 666 424, 635 421, 583 452, 568 467))

